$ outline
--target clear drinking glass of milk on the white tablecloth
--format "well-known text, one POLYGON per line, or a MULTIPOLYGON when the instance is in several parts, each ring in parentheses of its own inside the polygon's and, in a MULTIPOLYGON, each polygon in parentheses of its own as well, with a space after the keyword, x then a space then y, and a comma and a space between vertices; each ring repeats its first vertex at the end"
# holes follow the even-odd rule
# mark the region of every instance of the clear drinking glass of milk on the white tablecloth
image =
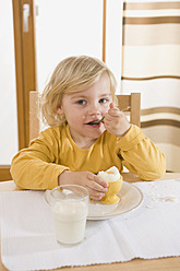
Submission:
POLYGON ((62 244, 80 243, 84 238, 87 202, 64 200, 51 207, 57 240, 62 244))

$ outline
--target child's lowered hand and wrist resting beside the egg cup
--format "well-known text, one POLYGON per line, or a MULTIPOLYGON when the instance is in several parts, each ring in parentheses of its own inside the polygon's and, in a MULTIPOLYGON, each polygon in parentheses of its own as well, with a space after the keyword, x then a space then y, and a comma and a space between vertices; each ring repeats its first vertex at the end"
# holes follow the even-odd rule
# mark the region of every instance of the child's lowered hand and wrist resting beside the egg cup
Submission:
POLYGON ((59 186, 61 185, 83 186, 88 190, 89 198, 93 200, 100 200, 108 190, 108 184, 89 172, 64 170, 59 176, 59 186))

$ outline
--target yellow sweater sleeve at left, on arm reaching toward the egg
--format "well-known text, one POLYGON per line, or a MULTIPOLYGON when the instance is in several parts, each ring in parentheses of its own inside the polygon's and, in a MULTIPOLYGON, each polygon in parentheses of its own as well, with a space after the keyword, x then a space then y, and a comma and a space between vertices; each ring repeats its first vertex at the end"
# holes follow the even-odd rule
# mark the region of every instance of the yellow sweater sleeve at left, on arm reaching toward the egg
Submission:
MULTIPOLYGON (((47 129, 48 130, 48 129, 47 129)), ((59 141, 53 130, 44 131, 29 148, 21 150, 12 160, 11 175, 22 189, 52 189, 58 176, 69 169, 58 164, 59 141)))

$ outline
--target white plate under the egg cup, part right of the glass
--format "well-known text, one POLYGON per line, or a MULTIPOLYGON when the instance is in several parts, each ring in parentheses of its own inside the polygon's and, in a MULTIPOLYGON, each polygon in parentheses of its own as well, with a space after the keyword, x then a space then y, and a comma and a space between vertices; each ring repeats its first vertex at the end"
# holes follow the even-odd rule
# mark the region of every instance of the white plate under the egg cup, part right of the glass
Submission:
POLYGON ((127 181, 122 182, 122 188, 118 196, 121 200, 117 204, 104 204, 99 201, 91 202, 87 220, 107 220, 115 215, 127 213, 137 208, 143 201, 142 191, 127 181))

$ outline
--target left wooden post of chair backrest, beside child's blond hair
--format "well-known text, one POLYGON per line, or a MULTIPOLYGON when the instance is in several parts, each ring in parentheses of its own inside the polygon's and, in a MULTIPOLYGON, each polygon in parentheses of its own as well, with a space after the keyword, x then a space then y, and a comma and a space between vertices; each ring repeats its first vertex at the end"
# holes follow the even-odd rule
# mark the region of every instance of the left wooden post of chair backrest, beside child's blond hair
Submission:
POLYGON ((29 141, 39 136, 39 94, 37 91, 29 92, 29 141))

